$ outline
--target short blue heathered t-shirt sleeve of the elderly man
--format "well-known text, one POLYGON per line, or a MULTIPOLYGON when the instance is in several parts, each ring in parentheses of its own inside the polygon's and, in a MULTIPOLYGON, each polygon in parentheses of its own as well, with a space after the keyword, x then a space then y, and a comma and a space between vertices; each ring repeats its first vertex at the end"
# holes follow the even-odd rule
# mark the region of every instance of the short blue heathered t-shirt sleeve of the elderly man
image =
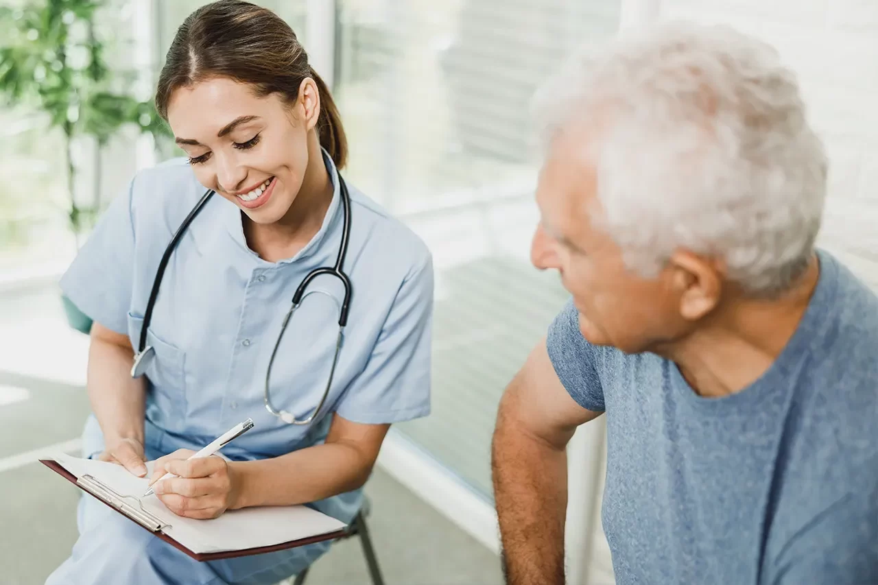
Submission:
POLYGON ((595 369, 595 348, 579 331, 579 312, 569 301, 549 326, 546 349, 558 379, 582 408, 603 412, 601 379, 595 369))

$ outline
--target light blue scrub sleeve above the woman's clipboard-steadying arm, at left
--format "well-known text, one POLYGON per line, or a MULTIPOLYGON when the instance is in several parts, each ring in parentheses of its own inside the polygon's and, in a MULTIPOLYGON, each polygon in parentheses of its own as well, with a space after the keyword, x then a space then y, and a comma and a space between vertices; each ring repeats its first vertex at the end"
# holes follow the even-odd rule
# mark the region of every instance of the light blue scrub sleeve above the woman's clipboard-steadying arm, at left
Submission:
POLYGON ((134 180, 112 200, 73 263, 61 291, 92 321, 126 334, 133 287, 134 180))

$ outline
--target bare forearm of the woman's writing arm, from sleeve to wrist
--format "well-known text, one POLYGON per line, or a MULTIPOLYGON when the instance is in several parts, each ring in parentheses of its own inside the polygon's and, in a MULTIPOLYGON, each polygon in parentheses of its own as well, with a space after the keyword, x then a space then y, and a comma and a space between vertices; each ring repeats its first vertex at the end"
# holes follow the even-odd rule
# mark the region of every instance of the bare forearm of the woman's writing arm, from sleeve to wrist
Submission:
POLYGON ((229 464, 238 492, 230 509, 315 502, 361 488, 389 428, 352 423, 335 414, 324 444, 274 459, 229 464))

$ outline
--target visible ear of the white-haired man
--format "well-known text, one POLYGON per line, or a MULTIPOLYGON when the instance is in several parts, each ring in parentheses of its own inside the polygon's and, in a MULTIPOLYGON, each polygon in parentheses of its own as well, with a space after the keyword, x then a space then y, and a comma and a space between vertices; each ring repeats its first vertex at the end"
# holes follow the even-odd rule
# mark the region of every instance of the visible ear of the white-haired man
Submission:
POLYGON ((697 321, 719 304, 723 294, 724 270, 711 258, 698 256, 686 250, 673 253, 673 286, 680 294, 680 314, 684 319, 697 321))

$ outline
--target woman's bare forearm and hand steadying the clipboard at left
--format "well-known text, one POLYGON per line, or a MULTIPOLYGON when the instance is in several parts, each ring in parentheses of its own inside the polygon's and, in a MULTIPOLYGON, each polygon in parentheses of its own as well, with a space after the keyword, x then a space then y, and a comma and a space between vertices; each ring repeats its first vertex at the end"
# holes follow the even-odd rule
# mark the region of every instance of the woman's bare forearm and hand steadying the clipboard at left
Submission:
POLYGON ((134 351, 127 336, 99 323, 91 326, 88 393, 91 410, 104 432, 104 452, 97 456, 125 466, 135 475, 143 465, 146 386, 131 377, 134 351))

